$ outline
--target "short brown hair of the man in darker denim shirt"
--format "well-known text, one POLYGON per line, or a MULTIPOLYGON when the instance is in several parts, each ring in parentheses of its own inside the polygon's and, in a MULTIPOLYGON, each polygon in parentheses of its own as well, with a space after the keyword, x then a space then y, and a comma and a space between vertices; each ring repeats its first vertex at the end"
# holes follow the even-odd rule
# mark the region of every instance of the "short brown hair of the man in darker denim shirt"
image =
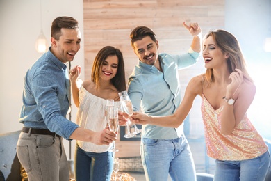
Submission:
POLYGON ((51 24, 51 37, 59 40, 61 29, 78 29, 78 22, 73 17, 56 17, 51 24))

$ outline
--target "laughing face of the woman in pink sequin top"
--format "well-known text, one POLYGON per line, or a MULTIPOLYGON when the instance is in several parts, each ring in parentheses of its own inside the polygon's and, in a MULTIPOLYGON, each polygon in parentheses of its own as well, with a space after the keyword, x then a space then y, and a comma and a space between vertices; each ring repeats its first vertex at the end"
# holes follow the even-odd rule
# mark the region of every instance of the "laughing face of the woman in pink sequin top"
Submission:
POLYGON ((204 41, 202 55, 205 61, 206 68, 217 68, 220 65, 227 65, 225 61, 229 56, 222 52, 213 40, 212 36, 209 36, 204 41))

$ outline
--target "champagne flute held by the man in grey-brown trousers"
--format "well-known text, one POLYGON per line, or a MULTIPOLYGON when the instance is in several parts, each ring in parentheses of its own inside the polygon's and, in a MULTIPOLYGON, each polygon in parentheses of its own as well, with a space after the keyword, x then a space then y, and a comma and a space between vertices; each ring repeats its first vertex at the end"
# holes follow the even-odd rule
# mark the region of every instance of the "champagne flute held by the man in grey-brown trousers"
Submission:
MULTIPOLYGON (((118 108, 116 106, 108 107, 108 127, 112 132, 118 132, 119 129, 119 118, 118 118, 118 108)), ((115 148, 115 141, 113 141, 113 147, 108 150, 108 152, 118 152, 115 148)))

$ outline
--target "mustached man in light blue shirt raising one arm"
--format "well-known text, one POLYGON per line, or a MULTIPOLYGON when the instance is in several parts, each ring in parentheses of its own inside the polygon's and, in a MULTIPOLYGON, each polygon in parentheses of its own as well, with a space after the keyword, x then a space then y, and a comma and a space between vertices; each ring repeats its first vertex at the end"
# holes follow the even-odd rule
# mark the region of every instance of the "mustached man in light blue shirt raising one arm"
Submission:
MULTIPOLYGON (((158 41, 151 29, 138 26, 130 34, 139 63, 129 77, 128 93, 134 111, 151 116, 171 115, 181 102, 179 73, 197 62, 201 51, 201 29, 197 23, 183 25, 194 36, 186 54, 158 54, 158 41)), ((167 120, 165 120, 167 121, 167 120)), ((142 125, 140 154, 146 180, 196 180, 195 166, 183 127, 177 129, 142 125)))

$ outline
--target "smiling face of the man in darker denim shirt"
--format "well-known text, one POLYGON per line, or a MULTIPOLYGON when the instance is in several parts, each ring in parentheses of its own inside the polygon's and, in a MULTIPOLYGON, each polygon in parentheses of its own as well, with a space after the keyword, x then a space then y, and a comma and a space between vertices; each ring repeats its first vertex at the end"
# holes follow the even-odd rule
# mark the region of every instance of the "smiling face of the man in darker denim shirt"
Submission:
POLYGON ((81 33, 76 29, 61 29, 59 40, 51 38, 51 52, 63 63, 74 60, 80 49, 81 33))

